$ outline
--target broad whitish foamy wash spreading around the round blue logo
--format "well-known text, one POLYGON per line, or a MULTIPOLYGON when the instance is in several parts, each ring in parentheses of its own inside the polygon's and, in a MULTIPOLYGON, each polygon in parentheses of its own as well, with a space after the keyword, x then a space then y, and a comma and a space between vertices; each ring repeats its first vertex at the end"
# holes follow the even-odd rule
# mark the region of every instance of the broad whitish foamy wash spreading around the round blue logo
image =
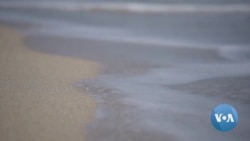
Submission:
MULTIPOLYGON (((228 141, 240 139, 246 141, 249 135, 244 134, 244 132, 250 125, 247 118, 248 106, 241 105, 236 101, 232 102, 220 98, 175 91, 169 89, 168 85, 190 83, 206 78, 249 75, 249 72, 249 63, 189 64, 178 65, 174 68, 154 69, 147 74, 132 77, 121 75, 100 76, 93 83, 90 83, 90 85, 115 89, 118 91, 116 94, 108 92, 106 97, 121 95, 122 100, 119 103, 132 106, 133 108, 127 111, 126 109, 120 111, 118 107, 102 109, 107 115, 106 118, 97 117, 98 128, 107 129, 117 134, 114 127, 106 126, 102 122, 107 122, 107 125, 120 125, 114 120, 120 118, 123 122, 128 122, 129 125, 132 125, 132 128, 131 126, 127 126, 127 124, 123 125, 122 127, 125 131, 133 129, 150 131, 153 133, 151 135, 157 141, 163 140, 157 138, 160 135, 166 135, 165 139, 167 139, 168 135, 172 135, 176 140, 198 141, 202 138, 205 141, 211 139, 228 141), (238 130, 227 136, 218 134, 209 122, 211 110, 221 102, 230 102, 236 107, 240 107, 238 108, 238 112, 241 114, 241 123, 238 130), (126 118, 120 117, 120 114, 123 114, 122 112, 124 111, 128 114, 125 114, 126 118)), ((103 91, 95 94, 97 97, 104 95, 103 91)), ((106 100, 103 101, 102 107, 107 106, 107 103, 105 103, 106 100)), ((93 127, 93 131, 95 130, 97 129, 93 127)), ((138 140, 141 138, 140 135, 150 136, 147 134, 138 134, 138 140)), ((118 139, 120 137, 123 138, 123 136, 119 136, 118 139)), ((105 140, 106 137, 103 137, 103 139, 105 140)))

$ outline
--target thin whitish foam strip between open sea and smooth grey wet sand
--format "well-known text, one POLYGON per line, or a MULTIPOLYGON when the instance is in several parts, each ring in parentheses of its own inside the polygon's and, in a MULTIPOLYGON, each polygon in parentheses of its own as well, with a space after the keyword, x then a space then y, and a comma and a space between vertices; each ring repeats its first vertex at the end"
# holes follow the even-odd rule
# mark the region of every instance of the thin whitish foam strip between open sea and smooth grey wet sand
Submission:
POLYGON ((179 42, 169 39, 159 39, 147 36, 137 36, 133 32, 122 29, 107 29, 105 27, 91 27, 83 25, 75 26, 56 26, 52 28, 30 29, 27 34, 56 35, 62 37, 76 37, 99 41, 110 41, 119 43, 135 43, 141 45, 152 45, 155 47, 171 48, 191 48, 191 49, 215 49, 218 53, 229 60, 249 61, 250 45, 220 45, 220 44, 199 44, 192 42, 179 42))

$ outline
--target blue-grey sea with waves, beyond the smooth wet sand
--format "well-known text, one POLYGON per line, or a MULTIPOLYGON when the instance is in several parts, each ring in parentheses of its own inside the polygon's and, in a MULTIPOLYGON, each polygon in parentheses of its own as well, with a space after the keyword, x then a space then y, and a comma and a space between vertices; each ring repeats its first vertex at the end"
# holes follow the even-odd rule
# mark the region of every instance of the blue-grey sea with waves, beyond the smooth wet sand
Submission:
POLYGON ((0 19, 46 25, 33 33, 97 40, 250 46, 249 0, 1 0, 0 19))

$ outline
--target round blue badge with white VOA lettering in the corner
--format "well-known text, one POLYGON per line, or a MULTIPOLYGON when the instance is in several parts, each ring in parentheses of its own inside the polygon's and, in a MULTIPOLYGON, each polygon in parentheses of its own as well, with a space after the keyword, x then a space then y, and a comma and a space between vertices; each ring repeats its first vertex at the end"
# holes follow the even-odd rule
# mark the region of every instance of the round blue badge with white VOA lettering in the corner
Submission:
POLYGON ((218 105, 211 113, 211 123, 219 131, 231 131, 238 123, 238 113, 231 105, 218 105))

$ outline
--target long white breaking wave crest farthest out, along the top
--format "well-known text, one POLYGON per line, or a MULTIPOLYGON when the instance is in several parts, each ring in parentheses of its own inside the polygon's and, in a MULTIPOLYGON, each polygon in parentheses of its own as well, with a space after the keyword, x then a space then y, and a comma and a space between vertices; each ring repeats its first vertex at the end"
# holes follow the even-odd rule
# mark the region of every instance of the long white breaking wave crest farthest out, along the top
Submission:
POLYGON ((0 2, 0 8, 109 11, 131 13, 250 13, 250 5, 195 5, 146 3, 0 2))

